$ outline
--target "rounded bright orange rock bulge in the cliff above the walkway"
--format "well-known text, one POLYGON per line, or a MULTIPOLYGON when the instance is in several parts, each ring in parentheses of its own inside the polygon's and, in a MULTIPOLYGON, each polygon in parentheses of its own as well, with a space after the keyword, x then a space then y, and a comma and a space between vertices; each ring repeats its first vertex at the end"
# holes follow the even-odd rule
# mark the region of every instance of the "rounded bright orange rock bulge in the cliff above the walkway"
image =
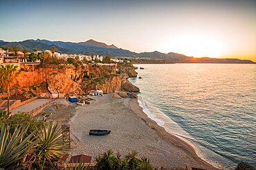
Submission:
POLYGON ((77 92, 78 85, 65 74, 52 74, 47 78, 48 90, 53 98, 62 97, 65 94, 77 92))

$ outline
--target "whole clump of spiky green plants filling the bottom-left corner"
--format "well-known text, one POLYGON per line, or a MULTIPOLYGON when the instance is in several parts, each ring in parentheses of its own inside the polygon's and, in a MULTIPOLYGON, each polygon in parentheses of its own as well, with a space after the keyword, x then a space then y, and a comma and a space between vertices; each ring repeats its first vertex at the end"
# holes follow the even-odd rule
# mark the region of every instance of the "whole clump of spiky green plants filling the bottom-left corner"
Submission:
POLYGON ((66 151, 58 124, 44 124, 26 114, 0 120, 0 168, 57 169, 66 151))

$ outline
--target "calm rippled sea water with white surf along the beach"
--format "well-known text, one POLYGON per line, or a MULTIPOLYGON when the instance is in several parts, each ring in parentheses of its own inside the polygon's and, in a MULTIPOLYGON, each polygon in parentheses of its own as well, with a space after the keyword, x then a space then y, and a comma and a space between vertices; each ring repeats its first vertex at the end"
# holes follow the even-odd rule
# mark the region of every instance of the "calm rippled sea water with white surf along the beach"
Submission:
POLYGON ((256 167, 256 65, 135 65, 139 103, 215 167, 256 167))

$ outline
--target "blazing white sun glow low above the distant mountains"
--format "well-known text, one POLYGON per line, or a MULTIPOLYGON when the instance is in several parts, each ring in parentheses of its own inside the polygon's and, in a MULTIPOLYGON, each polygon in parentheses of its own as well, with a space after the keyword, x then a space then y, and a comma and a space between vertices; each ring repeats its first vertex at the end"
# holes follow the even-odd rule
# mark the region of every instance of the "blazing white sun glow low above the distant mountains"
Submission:
POLYGON ((187 56, 217 58, 221 55, 221 41, 205 35, 187 35, 177 37, 174 41, 174 52, 179 52, 187 56))

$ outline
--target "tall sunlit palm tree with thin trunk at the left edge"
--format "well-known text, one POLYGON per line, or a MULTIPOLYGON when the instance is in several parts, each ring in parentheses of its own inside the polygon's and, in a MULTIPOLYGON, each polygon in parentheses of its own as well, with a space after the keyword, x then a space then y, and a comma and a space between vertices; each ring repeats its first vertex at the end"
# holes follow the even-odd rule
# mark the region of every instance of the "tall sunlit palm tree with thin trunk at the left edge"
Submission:
POLYGON ((10 114, 10 87, 17 81, 17 65, 0 65, 0 86, 7 90, 7 113, 10 114))

